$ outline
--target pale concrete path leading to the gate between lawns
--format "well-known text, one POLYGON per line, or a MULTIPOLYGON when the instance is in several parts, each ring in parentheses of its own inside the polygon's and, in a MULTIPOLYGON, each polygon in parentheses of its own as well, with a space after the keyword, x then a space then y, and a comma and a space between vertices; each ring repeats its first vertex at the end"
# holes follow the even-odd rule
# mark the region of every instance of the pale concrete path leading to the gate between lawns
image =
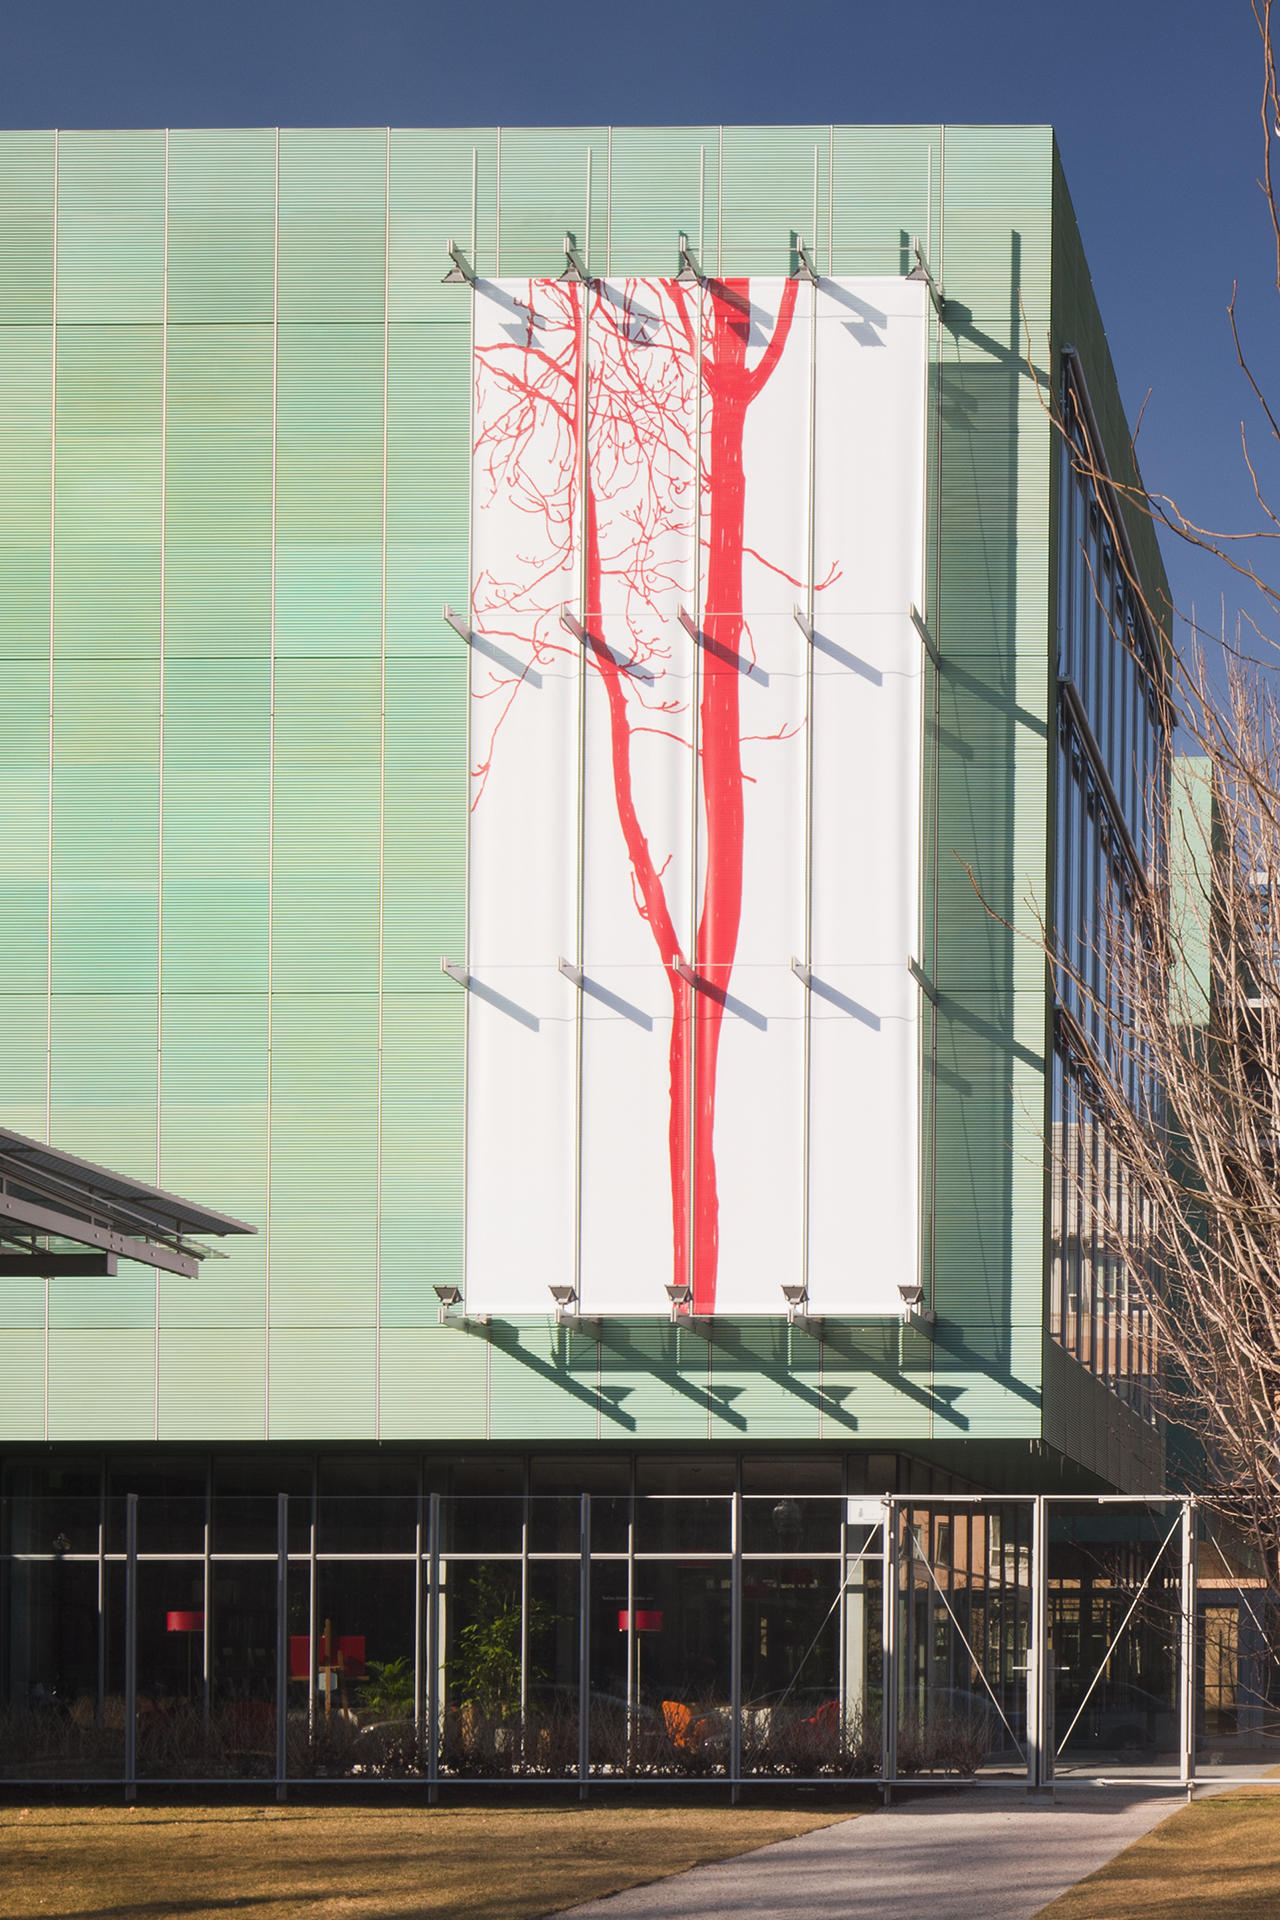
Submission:
POLYGON ((1150 1788, 929 1793, 585 1907, 574 1920, 1031 1920, 1182 1807, 1150 1788))

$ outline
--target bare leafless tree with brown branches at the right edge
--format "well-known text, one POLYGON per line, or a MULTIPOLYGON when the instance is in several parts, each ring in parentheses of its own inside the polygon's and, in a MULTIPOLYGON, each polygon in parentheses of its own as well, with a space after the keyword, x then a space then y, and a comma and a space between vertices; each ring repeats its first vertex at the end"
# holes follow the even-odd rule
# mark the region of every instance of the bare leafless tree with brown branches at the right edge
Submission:
MULTIPOLYGON (((1251 4, 1280 294, 1272 0, 1251 4)), ((1194 1438, 1203 1498, 1251 1538, 1280 1586, 1280 636, 1268 632, 1280 616, 1280 568, 1268 568, 1280 511, 1263 478, 1280 449, 1280 401, 1245 351, 1234 292, 1228 326, 1259 420, 1255 432, 1242 422, 1255 528, 1199 524, 1142 486, 1136 459, 1128 478, 1107 472, 1079 419, 1046 396, 1117 553, 1128 553, 1123 522, 1146 515, 1215 555, 1261 612, 1242 616, 1234 643, 1226 634, 1205 643, 1194 616, 1174 622, 1186 641, 1169 639, 1161 699, 1188 751, 1161 797, 1165 852, 1146 885, 1100 883, 1088 964, 1055 929, 1044 937, 1067 1002, 1059 1039, 1080 1089, 1077 1125, 1102 1129, 1123 1169, 1105 1181, 1090 1173, 1080 1217, 1088 1210, 1121 1288, 1153 1323, 1157 1404, 1194 1438)), ((1132 563, 1125 570, 1169 636, 1171 609, 1144 597, 1132 563)), ((1119 622, 1111 637, 1132 647, 1119 622)), ((1071 1144, 1055 1137, 1059 1165, 1094 1164, 1071 1144)), ((1115 1371, 1107 1361, 1115 1356, 1094 1356, 1115 1371)))

